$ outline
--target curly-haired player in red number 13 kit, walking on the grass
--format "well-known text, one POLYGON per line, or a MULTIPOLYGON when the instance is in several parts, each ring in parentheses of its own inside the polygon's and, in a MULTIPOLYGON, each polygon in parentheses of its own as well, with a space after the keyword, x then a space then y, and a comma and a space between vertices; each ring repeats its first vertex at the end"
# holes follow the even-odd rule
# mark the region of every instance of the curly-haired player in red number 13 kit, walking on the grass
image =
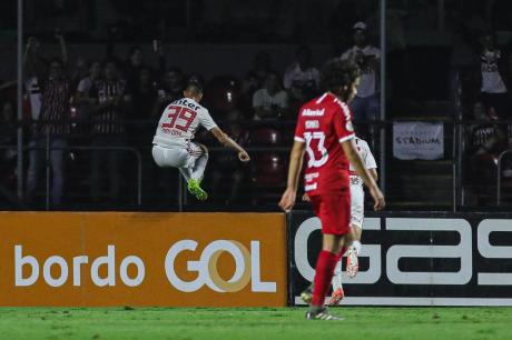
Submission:
POLYGON ((289 157, 288 181, 279 207, 289 212, 295 204, 298 177, 306 153, 304 188, 322 221, 323 246, 316 262, 313 299, 307 319, 339 320, 324 307, 325 296, 342 248, 351 244, 349 163, 370 189, 374 209, 384 208, 384 196, 366 170, 354 143, 352 112, 346 104, 356 94, 360 69, 355 63, 331 60, 322 71, 326 92, 299 111, 295 142, 289 157))

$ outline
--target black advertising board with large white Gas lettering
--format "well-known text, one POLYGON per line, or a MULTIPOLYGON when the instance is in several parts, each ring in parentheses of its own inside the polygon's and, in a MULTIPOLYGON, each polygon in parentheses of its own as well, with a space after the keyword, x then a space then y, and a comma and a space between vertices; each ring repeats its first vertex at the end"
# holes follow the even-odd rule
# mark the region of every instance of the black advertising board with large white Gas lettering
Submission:
MULTIPOLYGON (((301 304, 321 224, 298 211, 288 226, 288 299, 301 304)), ((343 304, 512 306, 512 214, 382 213, 365 218, 363 230, 360 272, 344 273, 343 304)))

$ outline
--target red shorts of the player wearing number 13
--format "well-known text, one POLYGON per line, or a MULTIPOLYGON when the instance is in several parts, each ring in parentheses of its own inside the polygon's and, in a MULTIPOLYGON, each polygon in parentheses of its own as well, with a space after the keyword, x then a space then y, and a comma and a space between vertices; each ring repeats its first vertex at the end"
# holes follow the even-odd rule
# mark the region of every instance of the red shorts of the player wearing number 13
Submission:
POLYGON ((351 231, 351 194, 318 194, 309 199, 321 219, 322 233, 342 236, 351 231))

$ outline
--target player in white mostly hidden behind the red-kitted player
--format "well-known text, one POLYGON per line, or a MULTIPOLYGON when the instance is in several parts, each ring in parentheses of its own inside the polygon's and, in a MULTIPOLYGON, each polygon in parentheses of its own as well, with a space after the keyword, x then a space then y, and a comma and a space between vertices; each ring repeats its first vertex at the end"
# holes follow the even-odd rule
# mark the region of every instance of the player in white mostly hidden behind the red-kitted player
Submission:
MULTIPOLYGON (((377 163, 370 150, 368 143, 361 139, 355 138, 357 151, 364 161, 366 169, 375 181, 377 181, 377 163)), ((353 278, 357 274, 360 269, 358 254, 361 252, 361 234, 363 232, 364 219, 364 189, 363 179, 357 176, 351 164, 351 229, 354 241, 346 251, 346 272, 348 277, 353 278)), ((331 296, 329 304, 337 304, 344 298, 345 293, 342 286, 342 260, 336 264, 333 277, 333 294, 331 296)))

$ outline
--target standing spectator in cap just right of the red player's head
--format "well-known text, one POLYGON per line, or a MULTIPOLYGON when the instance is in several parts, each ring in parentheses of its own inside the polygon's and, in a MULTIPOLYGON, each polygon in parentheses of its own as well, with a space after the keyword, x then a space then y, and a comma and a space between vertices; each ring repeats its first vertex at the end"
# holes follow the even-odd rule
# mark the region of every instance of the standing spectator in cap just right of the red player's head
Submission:
POLYGON ((342 54, 342 59, 352 60, 361 68, 361 81, 356 97, 349 102, 354 121, 374 120, 380 114, 378 79, 381 50, 367 42, 367 27, 356 22, 354 29, 355 44, 342 54))

